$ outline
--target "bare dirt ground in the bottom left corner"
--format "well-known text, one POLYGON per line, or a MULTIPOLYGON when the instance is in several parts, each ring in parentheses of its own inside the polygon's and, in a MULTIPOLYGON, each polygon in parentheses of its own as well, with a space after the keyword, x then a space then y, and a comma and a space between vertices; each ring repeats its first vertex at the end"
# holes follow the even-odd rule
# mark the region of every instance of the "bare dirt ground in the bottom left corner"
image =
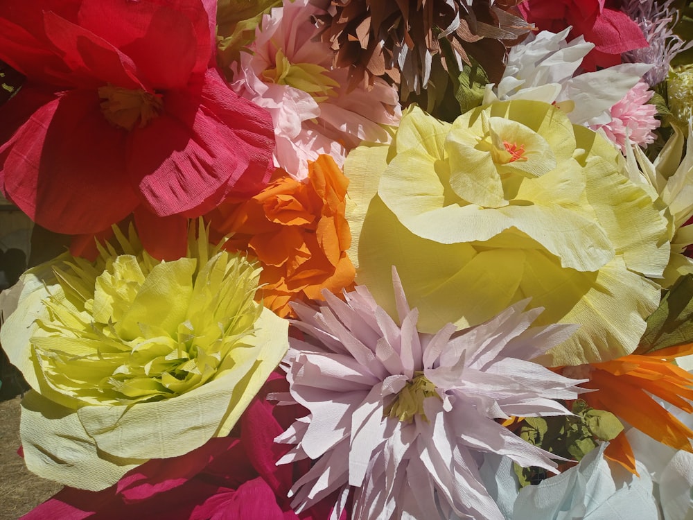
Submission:
POLYGON ((0 520, 18 519, 62 488, 28 471, 17 455, 20 401, 0 401, 0 520))

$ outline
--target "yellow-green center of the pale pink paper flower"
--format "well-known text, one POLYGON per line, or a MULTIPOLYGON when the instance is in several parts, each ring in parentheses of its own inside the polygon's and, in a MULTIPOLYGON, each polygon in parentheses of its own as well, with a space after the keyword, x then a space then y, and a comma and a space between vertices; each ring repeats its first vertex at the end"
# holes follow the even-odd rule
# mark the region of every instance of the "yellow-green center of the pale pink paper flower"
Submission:
POLYGON ((339 83, 326 76, 327 72, 327 69, 315 63, 291 63, 278 49, 274 57, 274 68, 265 69, 262 76, 277 85, 288 85, 308 92, 317 103, 321 103, 328 96, 334 95, 334 87, 339 87, 339 83))

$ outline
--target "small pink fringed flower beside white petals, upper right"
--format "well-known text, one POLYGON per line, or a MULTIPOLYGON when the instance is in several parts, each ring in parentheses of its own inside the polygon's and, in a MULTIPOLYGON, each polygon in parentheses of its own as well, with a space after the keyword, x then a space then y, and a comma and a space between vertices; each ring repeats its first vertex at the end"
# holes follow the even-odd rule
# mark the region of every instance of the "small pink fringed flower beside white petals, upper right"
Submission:
POLYGON ((653 94, 647 83, 638 82, 621 101, 611 107, 611 121, 590 128, 604 130, 606 137, 617 144, 623 153, 626 151, 626 135, 633 144, 647 146, 653 143, 656 136, 652 130, 660 125, 655 117, 657 107, 647 103, 653 94))

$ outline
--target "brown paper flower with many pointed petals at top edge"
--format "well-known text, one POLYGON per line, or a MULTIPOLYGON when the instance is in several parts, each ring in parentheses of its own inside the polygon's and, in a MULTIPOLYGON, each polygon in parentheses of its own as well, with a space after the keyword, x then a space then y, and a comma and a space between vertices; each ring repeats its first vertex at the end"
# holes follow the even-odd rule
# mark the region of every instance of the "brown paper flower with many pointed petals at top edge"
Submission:
MULTIPOLYGON (((500 78, 506 45, 527 35, 516 1, 339 0, 326 15, 322 40, 335 53, 335 67, 349 67, 350 83, 374 83, 387 74, 401 84, 402 99, 426 88, 433 62, 479 62, 493 80, 500 78), (451 56, 444 57, 439 40, 451 56)), ((457 79, 457 78, 455 78, 457 79)), ((441 85, 439 85, 441 87, 441 85)))

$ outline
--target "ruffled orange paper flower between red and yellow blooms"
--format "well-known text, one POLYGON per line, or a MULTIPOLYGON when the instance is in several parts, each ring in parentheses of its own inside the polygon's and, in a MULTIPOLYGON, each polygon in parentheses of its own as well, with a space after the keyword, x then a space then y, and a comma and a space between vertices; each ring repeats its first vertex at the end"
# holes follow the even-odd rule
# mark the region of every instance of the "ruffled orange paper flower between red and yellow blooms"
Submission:
POLYGON ((260 261, 265 286, 258 295, 278 315, 293 315, 289 302, 321 299, 323 288, 337 293, 353 284, 344 218, 348 184, 334 160, 322 155, 309 163, 304 182, 277 170, 250 200, 226 202, 209 214, 213 231, 233 234, 227 248, 260 261))

